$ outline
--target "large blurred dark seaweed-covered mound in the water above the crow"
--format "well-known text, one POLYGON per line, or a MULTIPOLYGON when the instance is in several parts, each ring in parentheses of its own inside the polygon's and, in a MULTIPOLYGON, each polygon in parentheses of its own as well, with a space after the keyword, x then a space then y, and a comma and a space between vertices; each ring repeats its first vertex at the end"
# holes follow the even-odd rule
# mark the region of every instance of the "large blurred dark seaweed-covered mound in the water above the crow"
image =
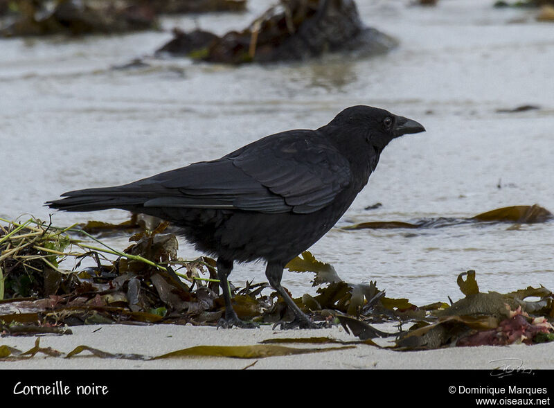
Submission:
POLYGON ((174 35, 158 55, 229 64, 306 60, 337 51, 375 55, 397 45, 364 26, 353 0, 281 0, 240 32, 218 37, 203 30, 175 30, 174 35))

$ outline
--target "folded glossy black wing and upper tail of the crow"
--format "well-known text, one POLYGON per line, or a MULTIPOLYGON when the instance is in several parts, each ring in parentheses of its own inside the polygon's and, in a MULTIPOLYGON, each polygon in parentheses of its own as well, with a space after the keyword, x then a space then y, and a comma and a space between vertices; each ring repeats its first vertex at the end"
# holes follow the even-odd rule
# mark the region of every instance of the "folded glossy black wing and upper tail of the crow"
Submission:
POLYGON ((312 213, 332 202, 349 182, 348 161, 323 135, 296 130, 267 136, 221 159, 193 163, 124 186, 65 193, 69 198, 60 203, 73 204, 73 200, 83 206, 88 199, 98 207, 140 203, 145 207, 312 213))

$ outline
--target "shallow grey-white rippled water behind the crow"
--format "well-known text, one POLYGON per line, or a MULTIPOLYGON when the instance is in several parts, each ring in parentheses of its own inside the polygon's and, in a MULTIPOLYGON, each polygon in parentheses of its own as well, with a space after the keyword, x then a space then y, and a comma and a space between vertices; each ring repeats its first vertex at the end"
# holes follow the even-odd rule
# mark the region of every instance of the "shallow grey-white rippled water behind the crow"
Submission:
MULTIPOLYGON (((269 1, 250 3, 242 15, 172 17, 163 26, 224 33, 269 1)), ((356 104, 414 118, 427 132, 386 148, 338 225, 465 218, 535 203, 554 211, 554 25, 535 22, 532 10, 493 9, 492 1, 358 4, 366 24, 399 39, 399 48, 363 60, 237 68, 148 57, 168 32, 0 39, 0 216, 46 219, 42 203, 66 190, 214 159, 266 134, 319 127, 356 104), (136 57, 149 66, 113 69, 136 57), (541 109, 496 112, 529 104, 541 109), (364 210, 376 202, 383 205, 364 210)), ((126 218, 123 211, 55 213, 53 222, 126 218)), ((467 269, 476 270, 481 290, 552 288, 554 222, 508 227, 337 228, 310 250, 345 280, 376 280, 388 296, 417 304, 461 297, 456 277, 467 269)), ((199 254, 182 242, 179 255, 199 254)), ((238 265, 231 279, 261 281, 262 271, 238 265)), ((283 284, 294 296, 313 294, 311 278, 285 273, 283 284)))

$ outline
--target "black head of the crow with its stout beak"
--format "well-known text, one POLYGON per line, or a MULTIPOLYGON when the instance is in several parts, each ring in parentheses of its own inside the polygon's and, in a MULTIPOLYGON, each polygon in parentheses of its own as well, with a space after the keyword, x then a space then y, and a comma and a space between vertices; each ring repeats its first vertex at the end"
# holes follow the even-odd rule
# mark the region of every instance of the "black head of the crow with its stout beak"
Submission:
POLYGON ((395 137, 425 132, 425 127, 412 119, 364 105, 347 107, 323 128, 327 128, 325 133, 339 145, 370 147, 377 154, 395 137))

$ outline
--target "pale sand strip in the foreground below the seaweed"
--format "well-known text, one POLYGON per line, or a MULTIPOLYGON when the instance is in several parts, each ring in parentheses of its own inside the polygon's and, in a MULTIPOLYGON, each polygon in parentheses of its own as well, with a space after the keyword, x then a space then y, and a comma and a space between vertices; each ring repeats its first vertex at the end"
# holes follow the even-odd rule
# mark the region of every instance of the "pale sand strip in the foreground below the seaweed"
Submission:
MULTIPOLYGON (((383 328, 392 331, 392 328, 383 328)), ((331 337, 344 341, 357 338, 341 327, 320 330, 272 330, 262 326, 255 330, 230 330, 195 326, 76 326, 73 335, 45 335, 41 347, 51 347, 62 353, 85 345, 108 353, 136 353, 157 356, 192 346, 255 345, 265 339, 331 337)), ((3 337, 0 345, 27 351, 36 337, 3 337)), ((386 341, 379 340, 386 345, 386 341)), ((341 347, 341 344, 282 344, 293 348, 341 347)), ((230 357, 180 357, 163 360, 114 360, 92 357, 84 351, 71 358, 47 357, 37 354, 28 360, 2 361, 0 369, 552 369, 554 343, 526 346, 481 346, 443 348, 433 351, 397 352, 357 344, 353 348, 254 359, 230 357)))

